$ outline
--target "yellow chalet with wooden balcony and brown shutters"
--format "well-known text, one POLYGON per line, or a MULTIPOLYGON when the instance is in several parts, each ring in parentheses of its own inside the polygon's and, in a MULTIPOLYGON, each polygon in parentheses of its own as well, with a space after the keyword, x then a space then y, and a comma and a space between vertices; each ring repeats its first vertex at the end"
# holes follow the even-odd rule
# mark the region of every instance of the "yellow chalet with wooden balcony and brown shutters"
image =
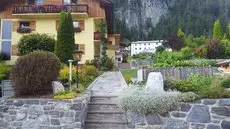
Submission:
POLYGON ((75 43, 84 52, 82 62, 100 56, 101 20, 107 23, 107 54, 115 59, 120 35, 113 33, 111 0, 9 0, 0 11, 0 50, 4 60, 13 64, 18 58, 17 43, 23 35, 45 33, 57 37, 62 10, 71 12, 75 27, 75 43), (27 29, 30 31, 26 31, 27 29))

